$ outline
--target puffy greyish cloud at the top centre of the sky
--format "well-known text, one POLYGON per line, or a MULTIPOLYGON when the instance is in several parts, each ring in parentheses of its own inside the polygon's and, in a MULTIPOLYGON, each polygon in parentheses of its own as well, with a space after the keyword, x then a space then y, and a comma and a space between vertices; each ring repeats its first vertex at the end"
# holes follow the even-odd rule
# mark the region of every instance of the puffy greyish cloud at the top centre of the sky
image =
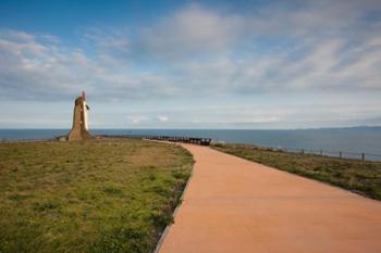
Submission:
POLYGON ((142 50, 164 59, 228 50, 243 28, 237 15, 221 15, 197 4, 188 5, 162 18, 157 25, 140 29, 142 50))

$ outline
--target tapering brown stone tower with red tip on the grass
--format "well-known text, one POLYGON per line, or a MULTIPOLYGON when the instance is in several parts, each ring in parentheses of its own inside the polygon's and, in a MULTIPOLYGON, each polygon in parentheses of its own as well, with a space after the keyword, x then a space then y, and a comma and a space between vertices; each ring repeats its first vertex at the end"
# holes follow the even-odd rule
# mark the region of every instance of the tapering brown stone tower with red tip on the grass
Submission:
POLYGON ((75 99, 74 116, 72 130, 69 132, 67 140, 89 140, 93 136, 88 132, 87 110, 85 91, 75 99))

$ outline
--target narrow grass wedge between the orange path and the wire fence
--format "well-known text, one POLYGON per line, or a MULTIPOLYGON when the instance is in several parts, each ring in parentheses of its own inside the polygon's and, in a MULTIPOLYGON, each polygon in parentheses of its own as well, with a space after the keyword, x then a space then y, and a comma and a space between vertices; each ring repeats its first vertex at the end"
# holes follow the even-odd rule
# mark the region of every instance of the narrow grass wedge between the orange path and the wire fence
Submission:
POLYGON ((213 148, 381 200, 381 162, 297 154, 246 144, 216 144, 213 148))

